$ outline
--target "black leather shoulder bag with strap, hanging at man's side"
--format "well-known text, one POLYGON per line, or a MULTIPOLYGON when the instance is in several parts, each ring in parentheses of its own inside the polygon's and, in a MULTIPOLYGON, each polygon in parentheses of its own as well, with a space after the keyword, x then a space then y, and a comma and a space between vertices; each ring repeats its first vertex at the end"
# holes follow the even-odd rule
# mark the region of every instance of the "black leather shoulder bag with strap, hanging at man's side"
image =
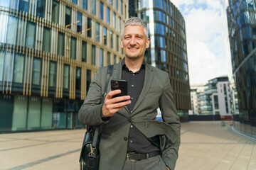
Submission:
MULTIPOLYGON (((102 94, 102 101, 104 102, 104 98, 107 92, 107 85, 110 81, 110 77, 113 72, 113 65, 107 66, 107 81, 105 84, 105 90, 102 94)), ((99 169, 100 164, 100 151, 99 151, 99 126, 87 126, 87 130, 85 132, 85 138, 82 142, 82 149, 80 154, 80 170, 97 170, 99 169)))

